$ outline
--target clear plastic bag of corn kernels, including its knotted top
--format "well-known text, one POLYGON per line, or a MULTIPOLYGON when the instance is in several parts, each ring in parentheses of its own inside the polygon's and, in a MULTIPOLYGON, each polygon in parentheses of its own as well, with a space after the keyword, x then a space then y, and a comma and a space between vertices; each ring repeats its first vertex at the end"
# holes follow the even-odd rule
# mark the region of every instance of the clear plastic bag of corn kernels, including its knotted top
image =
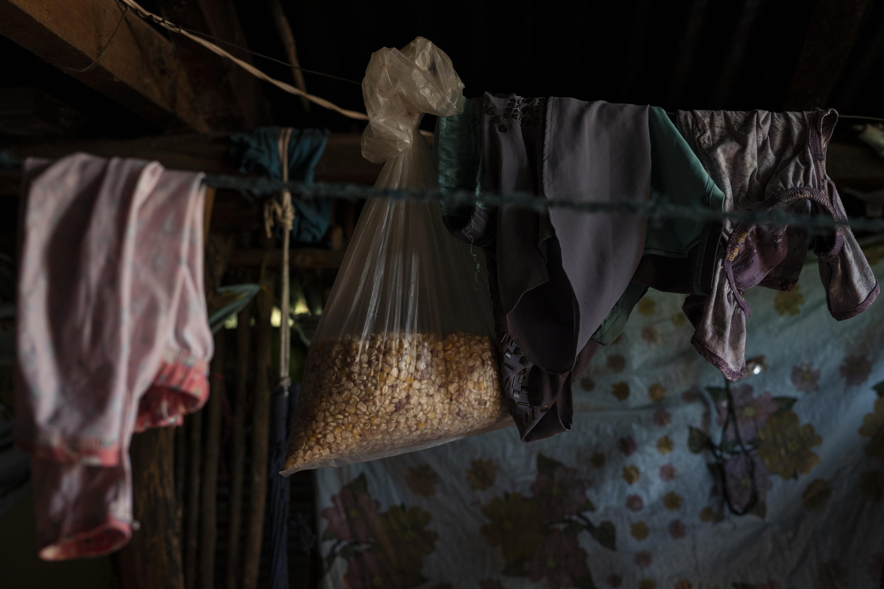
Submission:
MULTIPOLYGON (((362 87, 370 116, 362 153, 385 160, 376 186, 437 188, 417 125, 424 112, 462 108, 451 61, 419 37, 373 54, 362 87)), ((310 346, 283 474, 507 425, 492 309, 474 288, 476 270, 438 203, 366 203, 310 346)))

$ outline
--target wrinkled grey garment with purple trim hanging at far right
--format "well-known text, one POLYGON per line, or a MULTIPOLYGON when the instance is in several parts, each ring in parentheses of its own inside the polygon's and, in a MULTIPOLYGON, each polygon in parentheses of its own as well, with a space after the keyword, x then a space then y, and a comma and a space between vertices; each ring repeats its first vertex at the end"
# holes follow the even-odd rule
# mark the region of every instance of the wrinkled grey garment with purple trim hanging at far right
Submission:
MULTIPOLYGON (((679 112, 679 131, 725 193, 725 210, 770 211, 846 218, 826 176, 826 146, 837 113, 692 110, 679 112)), ((758 284, 789 291, 797 283, 814 238, 819 275, 832 316, 861 313, 880 291, 850 228, 816 236, 800 227, 754 226, 725 221, 723 256, 716 261, 708 296, 690 296, 684 312, 696 328, 691 343, 735 381, 745 371, 743 291, 758 284)))

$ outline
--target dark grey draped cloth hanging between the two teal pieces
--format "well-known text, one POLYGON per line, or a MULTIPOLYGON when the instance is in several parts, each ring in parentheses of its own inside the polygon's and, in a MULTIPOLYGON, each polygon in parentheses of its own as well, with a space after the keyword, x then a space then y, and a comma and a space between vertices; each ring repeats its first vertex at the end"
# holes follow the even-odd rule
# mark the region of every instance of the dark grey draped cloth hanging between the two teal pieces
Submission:
MULTIPOLYGON (((482 141, 492 191, 595 202, 650 196, 647 107, 485 94, 482 141)), ((490 266, 501 376, 528 442, 570 429, 572 374, 598 348, 591 335, 629 285, 646 223, 507 206, 497 217, 490 266)))

